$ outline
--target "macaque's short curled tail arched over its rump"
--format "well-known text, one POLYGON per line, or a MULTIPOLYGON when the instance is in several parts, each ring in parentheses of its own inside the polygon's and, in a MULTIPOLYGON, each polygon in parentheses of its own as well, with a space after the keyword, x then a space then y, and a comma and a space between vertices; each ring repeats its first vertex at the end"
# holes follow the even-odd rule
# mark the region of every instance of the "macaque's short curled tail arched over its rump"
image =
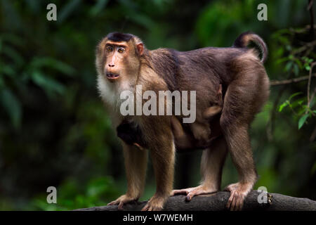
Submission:
POLYGON ((244 32, 237 37, 233 47, 235 48, 246 48, 251 42, 253 42, 261 53, 261 62, 264 63, 268 56, 268 48, 265 41, 257 34, 252 32, 244 32))

